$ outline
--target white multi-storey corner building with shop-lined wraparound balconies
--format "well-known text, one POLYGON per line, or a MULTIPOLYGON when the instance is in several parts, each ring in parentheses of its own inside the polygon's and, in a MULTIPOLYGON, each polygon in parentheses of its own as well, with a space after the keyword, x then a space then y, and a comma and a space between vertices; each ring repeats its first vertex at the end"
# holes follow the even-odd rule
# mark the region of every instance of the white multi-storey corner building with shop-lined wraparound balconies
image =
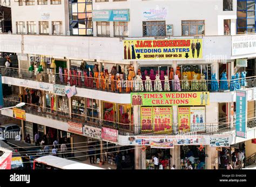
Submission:
POLYGON ((136 169, 152 168, 156 154, 165 169, 184 169, 192 155, 193 167, 212 169, 243 143, 247 157, 255 152, 256 35, 235 35, 238 1, 38 2, 11 3, 13 27, 56 21, 93 36, 0 35, 0 51, 19 58, 1 68, 3 84, 19 88, 5 104, 27 103, 23 134, 97 141, 100 160, 114 165, 120 151, 136 169))

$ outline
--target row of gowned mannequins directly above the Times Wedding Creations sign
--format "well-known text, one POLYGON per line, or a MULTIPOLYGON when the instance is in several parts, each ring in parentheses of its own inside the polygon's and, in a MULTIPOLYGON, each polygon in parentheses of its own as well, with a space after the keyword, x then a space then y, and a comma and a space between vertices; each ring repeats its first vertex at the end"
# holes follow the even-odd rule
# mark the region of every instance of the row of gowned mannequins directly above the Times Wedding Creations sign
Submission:
POLYGON ((200 74, 198 70, 180 72, 180 67, 177 66, 177 70, 174 74, 173 68, 171 68, 169 75, 168 72, 158 71, 154 72, 153 69, 150 72, 147 70, 144 73, 138 70, 136 76, 134 91, 136 92, 152 92, 152 91, 207 91, 207 83, 205 80, 205 74, 200 74), (180 80, 182 76, 182 80, 180 80))

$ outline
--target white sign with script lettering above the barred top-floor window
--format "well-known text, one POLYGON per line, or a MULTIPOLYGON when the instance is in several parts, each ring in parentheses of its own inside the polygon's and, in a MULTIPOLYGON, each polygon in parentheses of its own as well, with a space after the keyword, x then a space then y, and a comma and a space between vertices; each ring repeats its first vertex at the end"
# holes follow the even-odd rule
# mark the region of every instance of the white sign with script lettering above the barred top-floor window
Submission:
POLYGON ((165 20, 167 17, 168 8, 166 6, 159 7, 154 6, 152 8, 144 8, 143 10, 143 20, 165 20))

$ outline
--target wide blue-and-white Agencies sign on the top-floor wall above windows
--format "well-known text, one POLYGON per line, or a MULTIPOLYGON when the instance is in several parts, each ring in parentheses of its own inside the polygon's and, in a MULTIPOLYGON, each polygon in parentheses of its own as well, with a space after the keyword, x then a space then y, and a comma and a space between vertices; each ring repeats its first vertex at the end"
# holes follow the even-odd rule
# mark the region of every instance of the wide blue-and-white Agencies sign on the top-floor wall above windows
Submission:
POLYGON ((93 22, 129 22, 129 9, 93 10, 93 22))

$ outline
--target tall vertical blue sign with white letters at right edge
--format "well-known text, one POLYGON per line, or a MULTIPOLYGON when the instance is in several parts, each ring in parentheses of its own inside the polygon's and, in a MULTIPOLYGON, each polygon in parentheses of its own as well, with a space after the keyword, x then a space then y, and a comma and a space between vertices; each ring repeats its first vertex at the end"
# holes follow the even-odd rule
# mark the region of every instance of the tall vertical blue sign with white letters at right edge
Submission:
POLYGON ((246 138, 247 96, 246 91, 237 91, 235 135, 246 138))

